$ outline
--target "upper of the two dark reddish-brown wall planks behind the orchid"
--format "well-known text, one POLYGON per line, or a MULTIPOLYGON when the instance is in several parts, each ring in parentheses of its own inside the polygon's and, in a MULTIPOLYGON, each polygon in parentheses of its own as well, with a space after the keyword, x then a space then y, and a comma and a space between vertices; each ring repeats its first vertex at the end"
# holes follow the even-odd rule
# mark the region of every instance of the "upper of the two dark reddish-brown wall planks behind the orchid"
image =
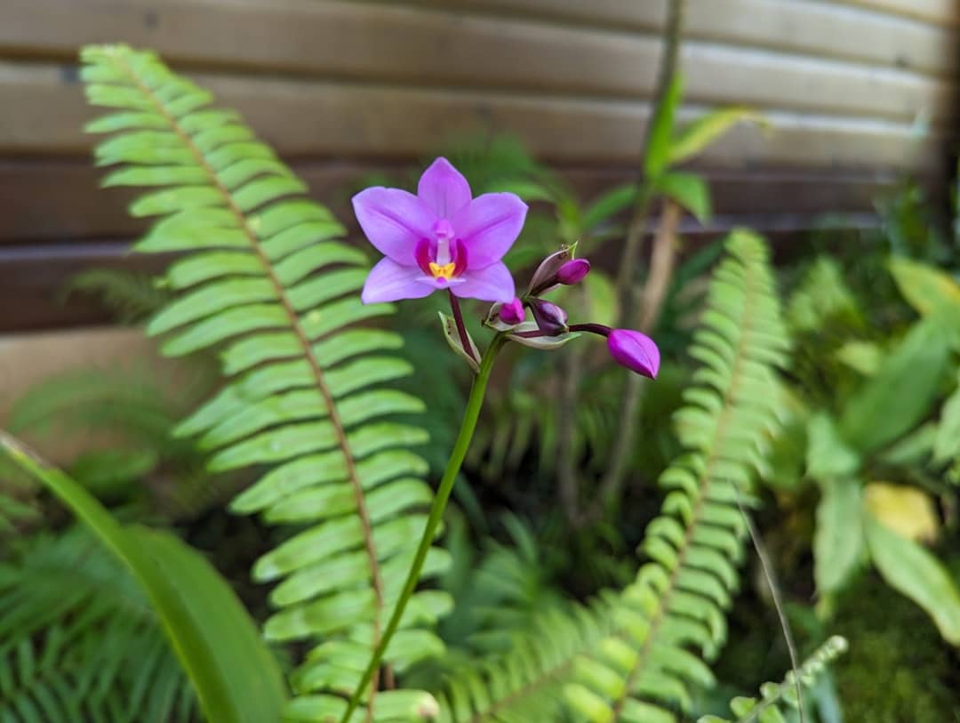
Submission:
MULTIPOLYGON (((345 220, 352 219, 349 195, 372 173, 402 178, 411 164, 307 161, 294 170, 310 186, 311 196, 345 220)), ((564 166, 557 169, 588 201, 605 189, 629 181, 628 166, 564 166)), ((698 169, 711 184, 713 207, 720 214, 814 214, 870 211, 894 183, 889 173, 810 173, 790 169, 751 172, 698 169)), ((0 245, 80 239, 130 239, 146 228, 126 207, 127 189, 98 188, 103 171, 83 158, 0 161, 0 245)))

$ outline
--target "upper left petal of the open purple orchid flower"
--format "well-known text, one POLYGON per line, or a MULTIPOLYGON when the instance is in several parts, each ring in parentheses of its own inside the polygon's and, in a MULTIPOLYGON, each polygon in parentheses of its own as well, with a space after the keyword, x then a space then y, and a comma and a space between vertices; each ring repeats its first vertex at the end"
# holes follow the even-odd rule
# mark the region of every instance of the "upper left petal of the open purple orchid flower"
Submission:
POLYGON ((430 238, 437 215, 412 193, 374 186, 353 197, 353 212, 376 250, 397 263, 413 266, 421 239, 430 238))

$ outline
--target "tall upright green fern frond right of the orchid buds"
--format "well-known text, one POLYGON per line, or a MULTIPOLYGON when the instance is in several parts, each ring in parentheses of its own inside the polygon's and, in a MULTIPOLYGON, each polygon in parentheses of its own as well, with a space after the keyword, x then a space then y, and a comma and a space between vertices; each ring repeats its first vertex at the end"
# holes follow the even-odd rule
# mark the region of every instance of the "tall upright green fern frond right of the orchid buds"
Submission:
POLYGON ((761 239, 735 231, 714 273, 691 355, 703 366, 677 412, 684 453, 660 475, 660 517, 640 549, 649 558, 623 591, 616 633, 598 646, 588 675, 566 687, 590 721, 675 721, 690 688, 710 686, 711 659, 727 635, 750 494, 776 425, 775 367, 788 342, 761 239))

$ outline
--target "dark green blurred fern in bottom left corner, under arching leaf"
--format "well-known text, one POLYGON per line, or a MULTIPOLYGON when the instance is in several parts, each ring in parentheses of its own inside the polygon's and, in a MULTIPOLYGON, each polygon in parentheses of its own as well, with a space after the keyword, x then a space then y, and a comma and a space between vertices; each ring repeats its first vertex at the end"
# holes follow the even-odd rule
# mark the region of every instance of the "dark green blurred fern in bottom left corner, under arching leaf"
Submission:
POLYGON ((196 700, 132 577, 83 529, 0 565, 0 719, 187 723, 196 700))

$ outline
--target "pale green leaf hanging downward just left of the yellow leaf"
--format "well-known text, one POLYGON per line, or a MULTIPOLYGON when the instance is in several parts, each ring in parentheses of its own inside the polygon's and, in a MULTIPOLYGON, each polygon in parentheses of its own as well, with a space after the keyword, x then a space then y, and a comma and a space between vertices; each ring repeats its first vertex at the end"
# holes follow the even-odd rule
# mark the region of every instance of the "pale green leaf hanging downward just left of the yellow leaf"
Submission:
POLYGON ((822 489, 813 535, 813 576, 817 590, 828 594, 840 590, 860 563, 864 536, 859 482, 834 479, 822 489))

